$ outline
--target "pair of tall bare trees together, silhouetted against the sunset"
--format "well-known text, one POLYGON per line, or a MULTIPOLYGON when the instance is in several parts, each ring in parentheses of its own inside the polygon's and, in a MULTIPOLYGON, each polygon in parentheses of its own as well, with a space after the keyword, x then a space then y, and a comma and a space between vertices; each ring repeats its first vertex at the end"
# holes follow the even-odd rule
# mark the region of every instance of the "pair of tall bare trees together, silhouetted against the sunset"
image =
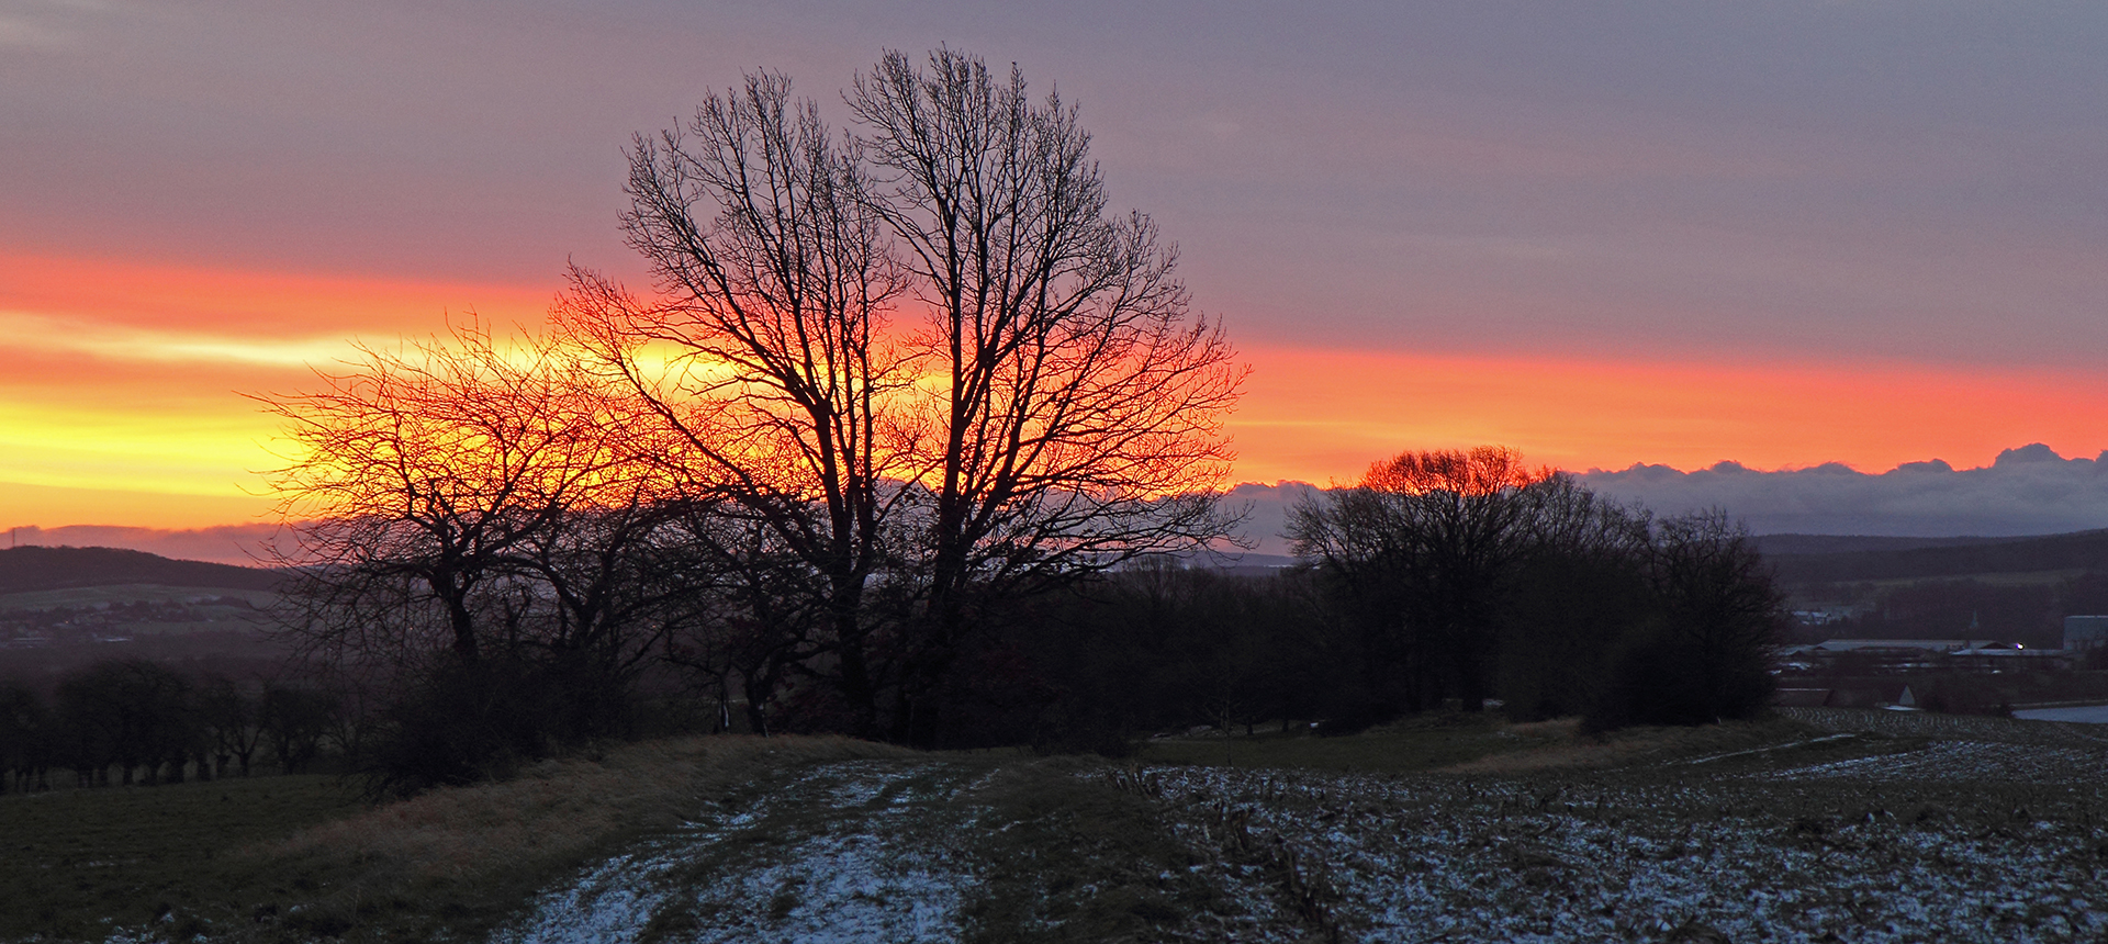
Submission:
POLYGON ((805 588, 769 605, 814 636, 769 651, 824 651, 797 664, 858 731, 925 742, 997 601, 1223 537, 1244 369, 1149 217, 1107 215, 1073 107, 951 51, 850 105, 837 139, 763 74, 639 137, 624 225, 662 291, 575 270, 561 318, 746 525, 704 535, 746 592, 805 588))

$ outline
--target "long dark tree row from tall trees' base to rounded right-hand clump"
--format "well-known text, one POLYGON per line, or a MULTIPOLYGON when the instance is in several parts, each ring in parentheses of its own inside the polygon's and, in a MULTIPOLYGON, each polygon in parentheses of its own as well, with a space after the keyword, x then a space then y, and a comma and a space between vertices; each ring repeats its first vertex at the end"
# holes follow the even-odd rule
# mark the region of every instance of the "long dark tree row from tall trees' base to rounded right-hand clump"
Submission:
POLYGON ((1280 575, 1178 560, 1043 601, 980 649, 987 744, 1117 752, 1189 725, 1410 712, 1712 723, 1773 691, 1781 596, 1722 514, 1659 518, 1503 449, 1406 453, 1292 514, 1280 575))

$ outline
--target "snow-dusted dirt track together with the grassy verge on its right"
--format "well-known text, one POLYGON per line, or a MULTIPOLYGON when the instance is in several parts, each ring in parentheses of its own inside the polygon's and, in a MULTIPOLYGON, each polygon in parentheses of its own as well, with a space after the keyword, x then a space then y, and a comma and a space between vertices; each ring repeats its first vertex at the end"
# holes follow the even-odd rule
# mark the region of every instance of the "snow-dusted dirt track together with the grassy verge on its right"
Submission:
POLYGON ((845 761, 750 784, 544 891, 495 944, 1294 942, 1265 864, 1195 856, 1084 761, 845 761))

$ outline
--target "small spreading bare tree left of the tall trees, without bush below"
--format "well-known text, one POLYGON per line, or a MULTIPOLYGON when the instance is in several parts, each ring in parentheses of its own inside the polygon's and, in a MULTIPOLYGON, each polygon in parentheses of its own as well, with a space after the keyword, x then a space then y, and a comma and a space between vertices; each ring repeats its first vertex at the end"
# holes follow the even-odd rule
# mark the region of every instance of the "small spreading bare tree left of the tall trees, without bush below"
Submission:
POLYGON ((318 379, 259 398, 293 445, 272 485, 299 546, 276 563, 297 584, 287 624, 314 653, 474 662, 521 630, 479 598, 516 598, 508 582, 580 514, 645 502, 630 457, 649 442, 618 438, 628 400, 546 339, 460 324, 318 379))

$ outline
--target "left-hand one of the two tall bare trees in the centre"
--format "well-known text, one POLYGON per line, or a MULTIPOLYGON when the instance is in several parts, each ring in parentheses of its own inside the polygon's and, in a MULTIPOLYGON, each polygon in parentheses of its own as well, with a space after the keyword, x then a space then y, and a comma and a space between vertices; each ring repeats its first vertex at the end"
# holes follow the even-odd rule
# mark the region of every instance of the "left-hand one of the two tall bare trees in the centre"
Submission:
POLYGON ((738 603, 763 588, 809 596, 776 605, 816 617, 868 731, 864 592, 913 476, 898 415, 913 375, 885 333, 900 272, 858 156, 782 76, 710 95, 685 131, 639 135, 630 152, 624 230, 662 295, 643 303, 573 270, 559 314, 679 438, 666 459, 691 495, 734 518, 694 537, 750 577, 738 603), (647 346, 670 365, 639 356, 647 346), (765 573, 782 567, 803 579, 765 573))

